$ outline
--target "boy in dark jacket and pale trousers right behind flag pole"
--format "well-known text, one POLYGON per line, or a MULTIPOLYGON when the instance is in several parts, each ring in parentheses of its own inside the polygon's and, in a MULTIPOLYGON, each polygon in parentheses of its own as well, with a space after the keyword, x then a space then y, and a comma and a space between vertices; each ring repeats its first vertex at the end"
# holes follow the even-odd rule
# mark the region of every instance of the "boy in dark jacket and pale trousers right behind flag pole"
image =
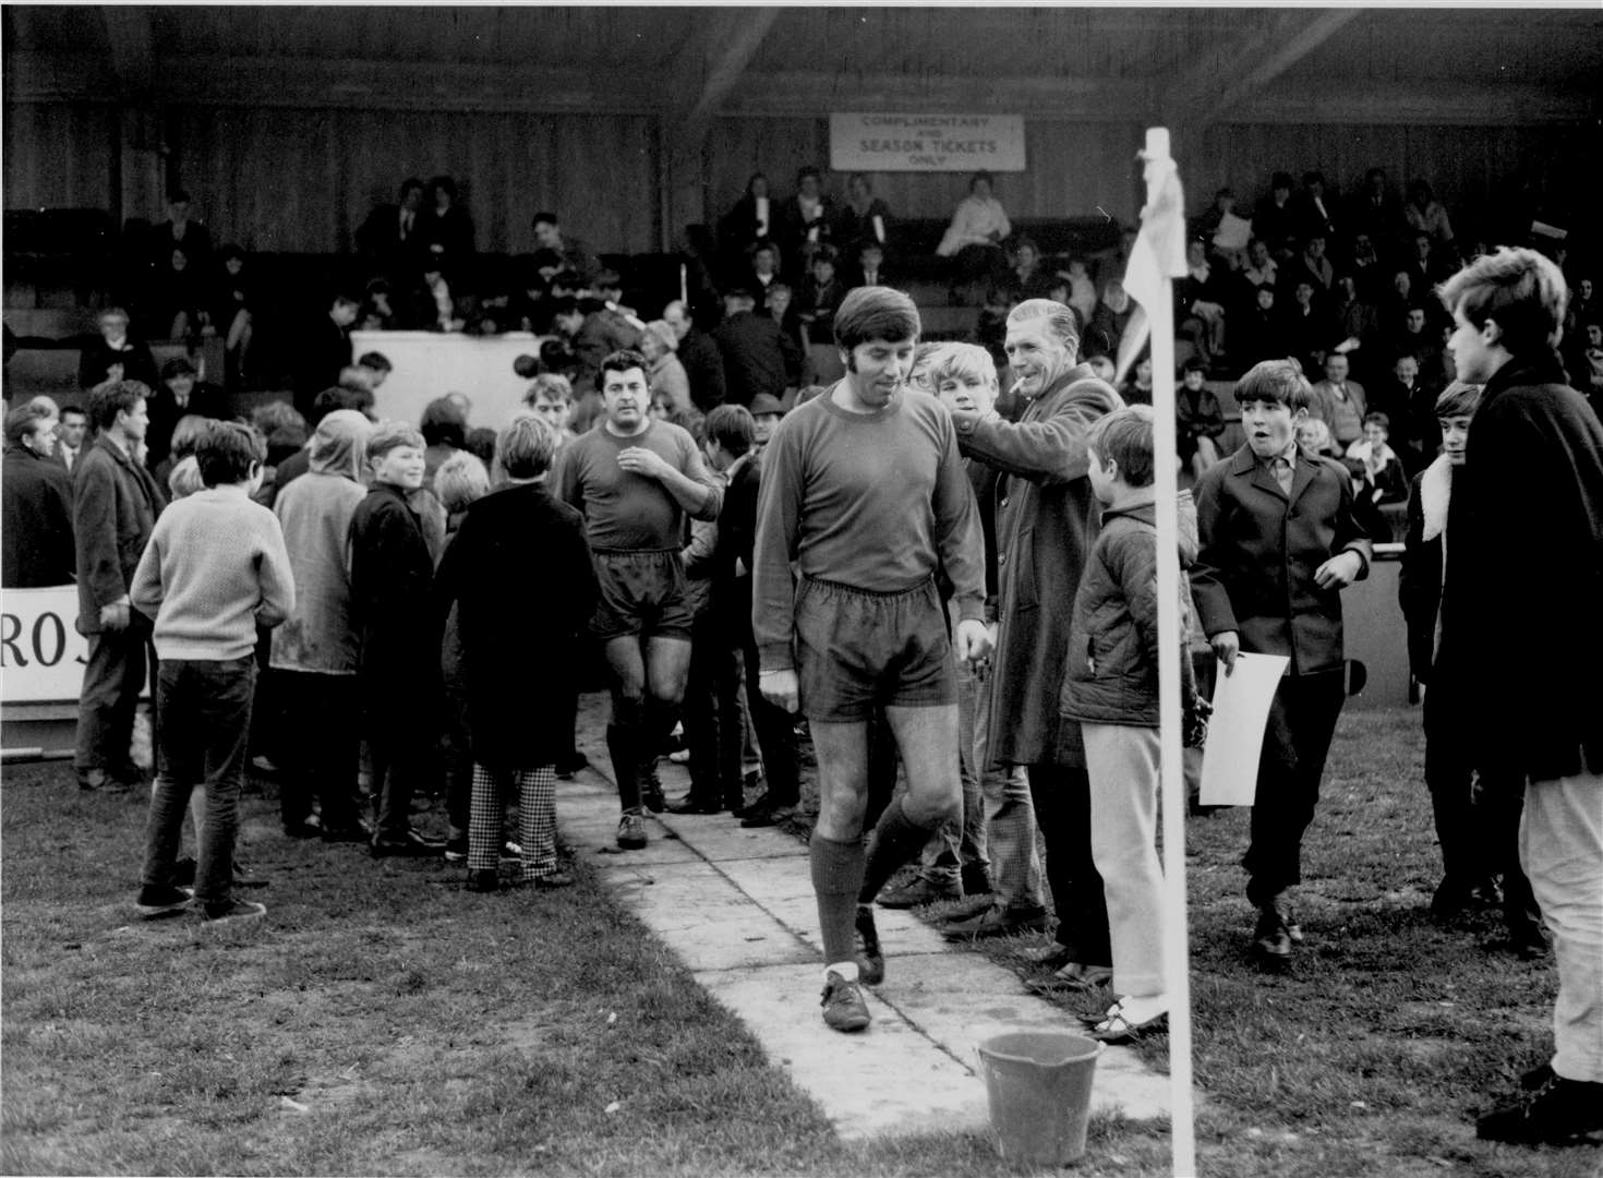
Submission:
MULTIPOLYGON (((1085 739, 1092 854, 1103 877, 1119 995, 1092 1037, 1127 1042, 1169 1021, 1156 845, 1161 700, 1151 407, 1109 414, 1092 426, 1085 446, 1103 526, 1074 598, 1061 712, 1080 723, 1085 739)), ((1189 614, 1183 601, 1180 609, 1181 617, 1189 614)), ((1185 673, 1191 662, 1185 643, 1177 654, 1185 673)))

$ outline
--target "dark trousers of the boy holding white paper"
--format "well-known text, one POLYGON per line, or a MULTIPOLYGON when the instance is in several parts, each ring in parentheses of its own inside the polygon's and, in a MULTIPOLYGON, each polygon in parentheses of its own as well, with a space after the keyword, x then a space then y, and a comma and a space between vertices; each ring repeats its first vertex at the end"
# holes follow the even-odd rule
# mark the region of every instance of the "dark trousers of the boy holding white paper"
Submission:
POLYGON ((1347 699, 1343 670, 1287 675, 1270 704, 1252 803, 1247 899, 1268 904, 1302 881, 1302 838, 1319 801, 1319 779, 1347 699))

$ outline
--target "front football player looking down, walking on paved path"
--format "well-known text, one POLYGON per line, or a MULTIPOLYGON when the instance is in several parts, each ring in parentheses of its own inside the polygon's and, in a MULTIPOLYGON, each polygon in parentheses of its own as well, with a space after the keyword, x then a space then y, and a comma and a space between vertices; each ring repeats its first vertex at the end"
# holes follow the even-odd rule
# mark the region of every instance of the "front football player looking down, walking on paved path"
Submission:
POLYGON ((919 309, 898 290, 859 287, 840 305, 835 338, 846 375, 793 410, 763 454, 752 628, 763 696, 806 713, 818 752, 824 1023, 862 1031, 861 984, 885 976, 874 896, 962 811, 952 644, 978 662, 991 641, 979 514, 957 434, 938 399, 907 391, 919 309), (936 569, 959 604, 952 641, 936 569), (907 793, 885 808, 866 854, 869 729, 880 710, 907 793))

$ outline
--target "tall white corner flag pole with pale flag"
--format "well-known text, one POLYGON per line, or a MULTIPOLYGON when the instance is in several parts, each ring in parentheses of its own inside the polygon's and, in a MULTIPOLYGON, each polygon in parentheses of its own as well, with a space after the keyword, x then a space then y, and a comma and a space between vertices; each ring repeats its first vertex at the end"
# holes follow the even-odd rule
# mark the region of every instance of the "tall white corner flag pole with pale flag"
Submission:
MULTIPOLYGON (((1164 813, 1164 947, 1169 990, 1170 1140, 1177 1178, 1197 1173, 1191 1095, 1191 984, 1186 938, 1186 792, 1180 744, 1180 518, 1175 470, 1173 279, 1186 272, 1186 220, 1180 173, 1169 157, 1169 128, 1146 128, 1141 152, 1146 208, 1130 253, 1125 288, 1146 311, 1153 338, 1153 452, 1157 458, 1157 688, 1164 813)), ((1122 362, 1133 361, 1137 341, 1122 362)))

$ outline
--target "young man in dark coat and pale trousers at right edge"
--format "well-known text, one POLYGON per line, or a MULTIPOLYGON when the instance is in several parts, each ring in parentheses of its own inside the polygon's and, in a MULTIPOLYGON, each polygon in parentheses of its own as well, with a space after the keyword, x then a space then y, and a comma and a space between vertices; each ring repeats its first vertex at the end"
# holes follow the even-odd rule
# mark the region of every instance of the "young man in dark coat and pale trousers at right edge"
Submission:
POLYGON ((1558 266, 1504 248, 1438 293, 1457 377, 1484 388, 1448 505, 1433 684, 1454 684, 1467 760, 1524 782, 1520 862, 1558 966, 1553 1056, 1476 1135, 1573 1144, 1603 1128, 1603 425, 1553 351, 1558 266))

